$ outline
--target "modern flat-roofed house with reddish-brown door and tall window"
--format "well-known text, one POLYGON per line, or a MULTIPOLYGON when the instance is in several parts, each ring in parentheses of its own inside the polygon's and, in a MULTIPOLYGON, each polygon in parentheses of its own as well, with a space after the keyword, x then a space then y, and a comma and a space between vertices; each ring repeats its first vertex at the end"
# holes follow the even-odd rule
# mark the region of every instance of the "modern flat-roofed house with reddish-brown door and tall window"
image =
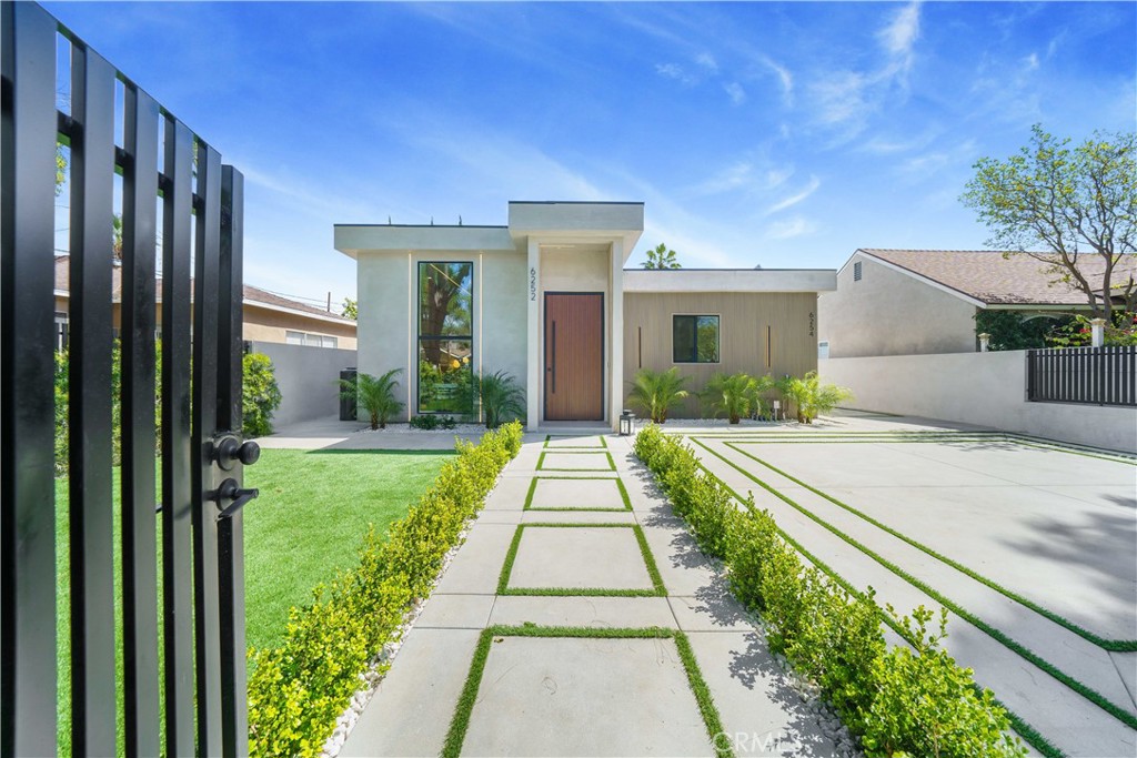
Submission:
MULTIPOLYGON (((526 423, 615 428, 640 368, 816 368, 828 270, 625 270, 639 202, 511 202, 505 226, 335 226, 357 260, 360 372, 397 368, 408 418, 473 415, 474 378, 504 370, 526 423)), ((689 402, 682 415, 697 415, 689 402)))

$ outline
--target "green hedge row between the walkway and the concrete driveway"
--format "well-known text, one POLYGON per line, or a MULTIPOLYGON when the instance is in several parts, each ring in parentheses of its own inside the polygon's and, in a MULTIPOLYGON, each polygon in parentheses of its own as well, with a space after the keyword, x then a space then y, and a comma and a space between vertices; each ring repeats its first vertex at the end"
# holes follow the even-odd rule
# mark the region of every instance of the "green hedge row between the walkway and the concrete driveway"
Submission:
POLYGON ((762 614, 771 649, 821 689, 869 756, 1026 755, 990 691, 939 647, 946 611, 929 632, 932 611, 921 606, 899 618, 888 606, 912 650, 888 649, 872 590, 853 594, 803 565, 770 513, 753 500, 739 509, 688 445, 650 425, 636 438, 636 455, 699 547, 725 563, 738 599, 762 614))

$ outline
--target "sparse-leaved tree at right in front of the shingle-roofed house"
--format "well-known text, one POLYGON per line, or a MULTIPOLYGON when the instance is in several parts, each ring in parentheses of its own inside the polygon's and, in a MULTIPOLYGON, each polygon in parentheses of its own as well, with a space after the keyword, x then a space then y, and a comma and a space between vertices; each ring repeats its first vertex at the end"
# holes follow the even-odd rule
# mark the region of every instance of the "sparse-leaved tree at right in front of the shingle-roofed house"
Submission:
POLYGON ((1137 310, 1137 134, 1069 144, 1036 124, 1019 155, 981 158, 960 199, 990 231, 988 245, 1038 259, 1095 316, 1109 318, 1117 297, 1137 310))

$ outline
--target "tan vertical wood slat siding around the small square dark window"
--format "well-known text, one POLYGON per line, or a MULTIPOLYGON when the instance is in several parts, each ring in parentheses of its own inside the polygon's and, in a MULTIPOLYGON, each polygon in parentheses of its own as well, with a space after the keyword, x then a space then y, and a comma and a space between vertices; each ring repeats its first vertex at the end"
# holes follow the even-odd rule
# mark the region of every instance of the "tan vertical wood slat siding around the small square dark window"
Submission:
MULTIPOLYGON (((816 332, 810 335, 810 314, 816 317, 818 299, 812 292, 788 293, 624 293, 624 344, 640 338, 642 367, 666 370, 672 366, 688 377, 687 390, 700 391, 716 373, 746 372, 774 378, 802 376, 818 368, 816 332), (673 315, 719 316, 717 364, 675 364, 672 361, 673 315), (770 330, 771 366, 767 368, 766 328, 770 330)), ((634 378, 637 356, 624 351, 624 398, 634 378)), ((688 398, 671 416, 698 417, 697 398, 688 398)))

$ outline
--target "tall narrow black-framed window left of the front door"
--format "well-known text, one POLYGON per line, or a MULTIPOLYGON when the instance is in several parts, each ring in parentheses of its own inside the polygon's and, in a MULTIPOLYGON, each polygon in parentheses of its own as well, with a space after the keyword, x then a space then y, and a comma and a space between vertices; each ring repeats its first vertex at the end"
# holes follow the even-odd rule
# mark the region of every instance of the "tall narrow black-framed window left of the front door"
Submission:
POLYGON ((474 265, 418 264, 420 414, 474 411, 474 265))

